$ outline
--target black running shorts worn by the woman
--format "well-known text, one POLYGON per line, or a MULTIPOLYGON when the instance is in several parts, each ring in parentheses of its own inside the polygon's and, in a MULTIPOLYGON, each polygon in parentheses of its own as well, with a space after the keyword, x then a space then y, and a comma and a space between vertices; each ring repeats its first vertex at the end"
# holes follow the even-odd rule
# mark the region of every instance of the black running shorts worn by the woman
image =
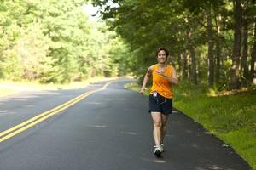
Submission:
POLYGON ((160 112, 165 115, 172 114, 172 99, 165 98, 160 94, 157 94, 157 97, 150 94, 148 112, 160 112))

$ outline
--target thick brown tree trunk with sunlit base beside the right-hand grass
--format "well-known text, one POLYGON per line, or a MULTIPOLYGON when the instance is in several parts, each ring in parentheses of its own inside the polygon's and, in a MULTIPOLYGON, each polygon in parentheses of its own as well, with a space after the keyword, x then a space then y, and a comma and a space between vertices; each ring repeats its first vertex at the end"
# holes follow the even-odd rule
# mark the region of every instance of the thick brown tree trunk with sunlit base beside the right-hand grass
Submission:
POLYGON ((235 32, 234 32, 234 46, 232 55, 232 67, 231 67, 231 88, 240 88, 239 81, 239 63, 241 58, 241 17, 242 8, 241 0, 235 0, 235 32))

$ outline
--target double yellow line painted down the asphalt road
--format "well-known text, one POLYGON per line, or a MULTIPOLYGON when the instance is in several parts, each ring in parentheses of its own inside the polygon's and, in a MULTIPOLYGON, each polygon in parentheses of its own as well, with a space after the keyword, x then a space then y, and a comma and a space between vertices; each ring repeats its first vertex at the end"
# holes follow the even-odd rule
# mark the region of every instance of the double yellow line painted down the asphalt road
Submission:
POLYGON ((54 116, 56 113, 59 113, 60 111, 63 111, 65 109, 67 109, 68 107, 70 107, 71 105, 74 105, 76 103, 78 103, 80 100, 86 98, 87 96, 89 96, 90 94, 94 94, 96 92, 102 91, 105 88, 108 87, 108 85, 112 83, 112 82, 108 82, 106 83, 102 88, 96 89, 96 90, 91 90, 89 92, 86 92, 84 94, 79 95, 78 97, 71 99, 69 101, 67 101, 66 103, 59 105, 49 111, 45 111, 41 114, 39 114, 38 116, 34 116, 31 119, 27 120, 26 122, 22 122, 18 125, 16 125, 15 127, 11 127, 5 131, 3 131, 2 133, 0 133, 0 143, 3 142, 6 139, 12 138, 13 136, 15 136, 18 133, 21 133, 23 131, 25 131, 26 129, 35 126, 36 124, 38 124, 39 122, 43 122, 45 119, 49 118, 50 116, 54 116))

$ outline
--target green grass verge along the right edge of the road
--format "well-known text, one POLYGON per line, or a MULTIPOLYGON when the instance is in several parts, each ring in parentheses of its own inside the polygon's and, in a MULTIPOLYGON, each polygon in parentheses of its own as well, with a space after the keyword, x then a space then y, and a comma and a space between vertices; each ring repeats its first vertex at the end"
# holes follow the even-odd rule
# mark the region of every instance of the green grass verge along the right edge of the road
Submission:
MULTIPOLYGON (((136 82, 125 87, 137 92, 140 89, 136 82)), ((255 90, 218 94, 207 86, 189 83, 180 83, 173 90, 175 108, 230 145, 256 170, 255 90)))

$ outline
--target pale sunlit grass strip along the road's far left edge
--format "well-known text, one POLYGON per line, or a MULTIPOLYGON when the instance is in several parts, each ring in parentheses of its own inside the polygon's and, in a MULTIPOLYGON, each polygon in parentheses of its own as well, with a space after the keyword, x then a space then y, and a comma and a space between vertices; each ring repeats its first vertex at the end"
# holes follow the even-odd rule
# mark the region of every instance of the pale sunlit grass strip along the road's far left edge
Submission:
POLYGON ((61 89, 72 89, 72 88, 84 88, 90 83, 113 80, 116 77, 106 78, 106 77, 93 77, 89 78, 84 82, 70 82, 67 84, 49 83, 42 84, 39 82, 29 82, 29 81, 0 81, 0 97, 7 96, 10 94, 18 94, 22 91, 38 91, 38 90, 61 90, 61 89))

